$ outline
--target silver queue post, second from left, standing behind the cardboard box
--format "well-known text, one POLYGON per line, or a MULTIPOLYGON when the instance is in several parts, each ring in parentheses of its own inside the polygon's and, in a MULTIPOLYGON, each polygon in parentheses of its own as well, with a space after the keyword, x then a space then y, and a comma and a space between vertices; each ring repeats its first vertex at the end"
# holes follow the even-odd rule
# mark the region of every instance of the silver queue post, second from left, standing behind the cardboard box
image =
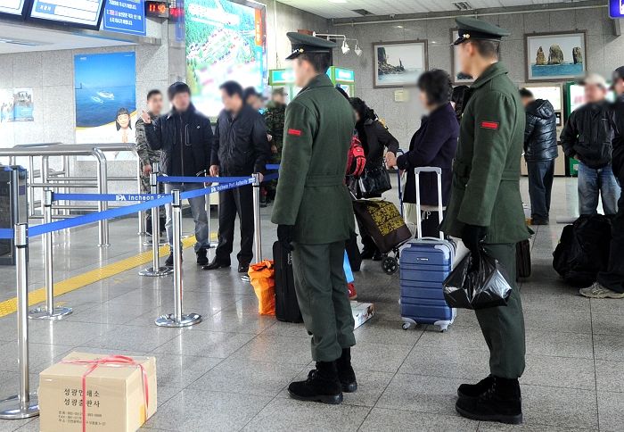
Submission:
MULTIPOLYGON (((52 222, 52 189, 44 190, 44 223, 52 222)), ((53 266, 53 234, 44 234, 44 272, 45 272, 45 307, 30 310, 31 320, 61 320, 69 315, 71 308, 54 307, 54 266, 53 266)))

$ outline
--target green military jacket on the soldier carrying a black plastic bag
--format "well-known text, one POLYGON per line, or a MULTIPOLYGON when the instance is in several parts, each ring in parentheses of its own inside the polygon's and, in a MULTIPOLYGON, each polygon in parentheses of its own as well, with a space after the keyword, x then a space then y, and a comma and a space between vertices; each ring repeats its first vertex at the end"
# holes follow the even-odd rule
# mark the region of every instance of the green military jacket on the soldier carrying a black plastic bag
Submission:
POLYGON ((488 227, 485 242, 517 243, 530 237, 520 195, 520 159, 526 115, 505 66, 492 64, 464 99, 453 186, 442 222, 461 237, 465 224, 488 227))

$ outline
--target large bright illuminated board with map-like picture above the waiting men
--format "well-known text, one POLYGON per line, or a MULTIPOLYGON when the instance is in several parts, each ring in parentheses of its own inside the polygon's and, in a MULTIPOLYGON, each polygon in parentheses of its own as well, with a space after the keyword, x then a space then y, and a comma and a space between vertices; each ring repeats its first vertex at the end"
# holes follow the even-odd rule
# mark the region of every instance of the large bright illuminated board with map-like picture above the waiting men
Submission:
POLYGON ((264 5, 185 0, 186 82, 206 115, 221 111, 218 87, 229 79, 262 91, 267 81, 264 5))

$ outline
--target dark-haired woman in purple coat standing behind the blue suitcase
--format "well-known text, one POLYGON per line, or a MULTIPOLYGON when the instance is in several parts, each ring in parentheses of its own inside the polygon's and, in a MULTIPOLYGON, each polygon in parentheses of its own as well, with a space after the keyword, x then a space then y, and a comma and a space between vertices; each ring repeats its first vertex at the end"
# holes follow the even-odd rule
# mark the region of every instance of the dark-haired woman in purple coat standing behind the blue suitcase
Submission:
MULTIPOLYGON (((459 123, 456 112, 450 104, 453 86, 446 71, 426 71, 418 79, 420 99, 428 115, 423 116, 421 127, 416 130, 409 145, 409 151, 397 158, 399 170, 407 171, 406 203, 416 203, 415 168, 439 167, 442 169, 442 205, 448 203, 451 191, 451 171, 457 148, 459 123)), ((421 212, 411 218, 423 221, 421 237, 439 236, 438 179, 435 173, 425 172, 420 176, 421 212)), ((415 212, 412 212, 415 213, 415 212)))

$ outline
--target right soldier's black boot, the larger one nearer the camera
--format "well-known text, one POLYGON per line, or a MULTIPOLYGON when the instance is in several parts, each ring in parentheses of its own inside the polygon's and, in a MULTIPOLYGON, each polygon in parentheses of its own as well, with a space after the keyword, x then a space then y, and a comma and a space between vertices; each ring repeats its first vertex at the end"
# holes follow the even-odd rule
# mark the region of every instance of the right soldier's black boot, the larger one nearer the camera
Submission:
POLYGON ((498 421, 519 425, 522 422, 522 398, 518 379, 492 376, 492 385, 478 397, 460 397, 456 411, 466 419, 498 421))

